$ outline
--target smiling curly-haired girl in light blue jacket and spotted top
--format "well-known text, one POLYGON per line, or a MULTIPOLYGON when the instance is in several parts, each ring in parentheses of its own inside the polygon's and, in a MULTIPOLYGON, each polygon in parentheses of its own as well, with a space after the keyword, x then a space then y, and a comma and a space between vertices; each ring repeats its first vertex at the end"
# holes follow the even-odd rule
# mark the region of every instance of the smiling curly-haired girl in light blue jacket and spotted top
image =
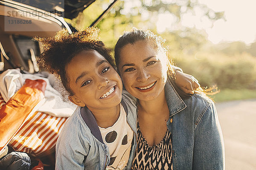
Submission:
POLYGON ((122 81, 99 30, 35 38, 43 43, 41 68, 61 78, 78 105, 56 144, 56 170, 131 169, 137 147, 135 98, 122 81))

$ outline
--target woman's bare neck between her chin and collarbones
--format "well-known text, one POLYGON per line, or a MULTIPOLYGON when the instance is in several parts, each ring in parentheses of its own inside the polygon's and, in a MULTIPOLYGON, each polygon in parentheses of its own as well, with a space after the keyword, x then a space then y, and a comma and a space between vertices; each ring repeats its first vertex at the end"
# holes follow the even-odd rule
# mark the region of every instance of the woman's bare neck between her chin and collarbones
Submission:
POLYGON ((139 112, 146 114, 155 115, 161 113, 160 111, 163 111, 164 108, 168 110, 164 89, 156 99, 150 101, 138 100, 137 105, 139 112))

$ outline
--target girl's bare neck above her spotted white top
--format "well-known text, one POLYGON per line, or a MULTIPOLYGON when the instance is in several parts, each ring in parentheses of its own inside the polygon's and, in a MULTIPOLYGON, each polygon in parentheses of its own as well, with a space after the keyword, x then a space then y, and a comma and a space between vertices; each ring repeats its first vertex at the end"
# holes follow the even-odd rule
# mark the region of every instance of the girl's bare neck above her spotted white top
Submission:
MULTIPOLYGON (((90 109, 90 108, 89 108, 90 109)), ((113 108, 90 109, 99 127, 107 128, 114 125, 120 115, 120 104, 113 108)))

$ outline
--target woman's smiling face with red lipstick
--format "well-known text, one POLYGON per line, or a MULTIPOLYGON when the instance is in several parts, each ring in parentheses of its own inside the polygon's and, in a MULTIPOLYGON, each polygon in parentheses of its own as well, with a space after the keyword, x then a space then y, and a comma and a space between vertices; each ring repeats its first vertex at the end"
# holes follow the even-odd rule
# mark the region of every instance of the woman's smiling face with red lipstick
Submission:
POLYGON ((150 101, 164 90, 167 80, 165 54, 147 41, 125 45, 120 50, 118 69, 125 89, 137 99, 150 101))

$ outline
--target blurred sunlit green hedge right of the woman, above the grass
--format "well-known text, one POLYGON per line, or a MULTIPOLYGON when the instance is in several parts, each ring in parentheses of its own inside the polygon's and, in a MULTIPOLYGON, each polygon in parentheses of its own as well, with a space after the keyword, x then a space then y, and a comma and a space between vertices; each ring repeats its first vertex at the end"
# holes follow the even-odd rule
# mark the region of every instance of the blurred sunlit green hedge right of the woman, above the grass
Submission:
POLYGON ((200 54, 174 58, 177 66, 196 77, 202 86, 219 89, 256 88, 256 57, 250 54, 200 54))

